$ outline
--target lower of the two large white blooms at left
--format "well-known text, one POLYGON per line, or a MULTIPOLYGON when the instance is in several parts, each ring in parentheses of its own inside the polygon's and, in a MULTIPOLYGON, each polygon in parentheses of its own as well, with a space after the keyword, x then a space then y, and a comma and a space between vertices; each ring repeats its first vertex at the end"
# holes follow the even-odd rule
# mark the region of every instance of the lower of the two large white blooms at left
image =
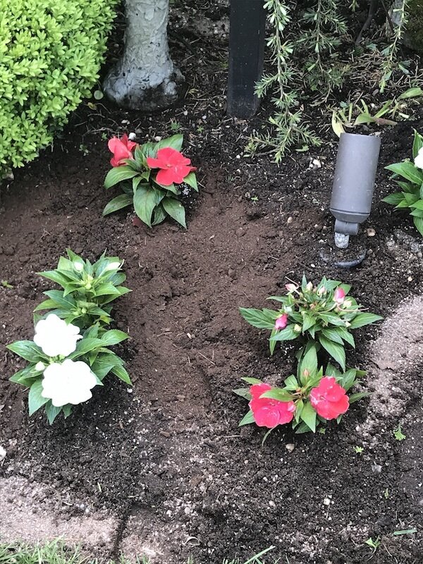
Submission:
POLYGON ((97 378, 90 367, 81 360, 66 359, 53 362, 44 370, 42 397, 49 398, 54 407, 68 403, 78 405, 92 398, 91 389, 97 386, 97 378))

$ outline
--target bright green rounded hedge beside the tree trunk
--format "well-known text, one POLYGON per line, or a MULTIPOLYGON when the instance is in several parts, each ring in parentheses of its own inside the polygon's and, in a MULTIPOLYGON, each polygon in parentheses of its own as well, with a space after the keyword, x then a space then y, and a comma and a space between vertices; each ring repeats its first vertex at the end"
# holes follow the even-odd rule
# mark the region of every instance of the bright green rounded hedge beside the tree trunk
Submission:
POLYGON ((37 157, 97 81, 116 0, 0 0, 0 179, 37 157))

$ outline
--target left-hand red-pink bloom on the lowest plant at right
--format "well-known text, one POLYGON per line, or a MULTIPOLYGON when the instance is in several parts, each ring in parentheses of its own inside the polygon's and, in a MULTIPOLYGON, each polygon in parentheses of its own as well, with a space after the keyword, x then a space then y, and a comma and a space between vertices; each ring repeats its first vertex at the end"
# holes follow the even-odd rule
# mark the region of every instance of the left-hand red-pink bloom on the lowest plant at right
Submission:
POLYGON ((259 427, 273 429, 276 425, 289 423, 293 420, 295 404, 293 401, 278 401, 271 398, 260 398, 262 394, 271 390, 269 384, 255 384, 250 387, 252 400, 250 410, 259 427))

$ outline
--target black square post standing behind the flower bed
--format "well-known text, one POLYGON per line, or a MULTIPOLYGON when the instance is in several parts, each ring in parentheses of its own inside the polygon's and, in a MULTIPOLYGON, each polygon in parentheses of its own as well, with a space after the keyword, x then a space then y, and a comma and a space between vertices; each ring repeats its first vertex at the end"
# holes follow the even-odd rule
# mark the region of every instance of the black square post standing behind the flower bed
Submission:
POLYGON ((231 0, 228 114, 254 116, 259 107, 255 83, 263 73, 266 11, 263 0, 231 0))

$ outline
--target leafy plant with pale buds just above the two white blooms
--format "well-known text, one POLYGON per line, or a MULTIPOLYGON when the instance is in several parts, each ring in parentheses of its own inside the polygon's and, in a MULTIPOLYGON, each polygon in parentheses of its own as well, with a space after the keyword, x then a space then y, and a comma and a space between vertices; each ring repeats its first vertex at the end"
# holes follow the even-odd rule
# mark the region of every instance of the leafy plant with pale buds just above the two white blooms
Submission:
POLYGON ((40 303, 35 312, 44 309, 68 323, 86 329, 94 323, 109 324, 111 302, 130 290, 121 286, 126 276, 121 272, 118 257, 106 257, 106 252, 91 264, 89 260, 67 249, 68 258, 60 257, 54 270, 40 272, 41 276, 56 282, 63 290, 47 290, 47 300, 40 303))

